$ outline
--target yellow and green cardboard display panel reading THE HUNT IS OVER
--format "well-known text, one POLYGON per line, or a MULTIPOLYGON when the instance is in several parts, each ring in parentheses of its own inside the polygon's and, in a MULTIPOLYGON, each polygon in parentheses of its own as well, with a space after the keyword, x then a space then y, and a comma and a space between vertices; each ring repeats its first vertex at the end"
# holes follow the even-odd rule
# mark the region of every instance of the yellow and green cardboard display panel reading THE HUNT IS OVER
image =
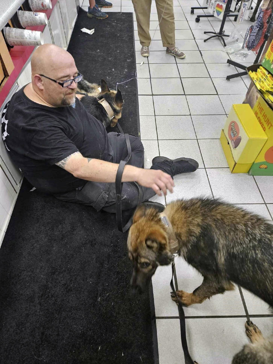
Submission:
POLYGON ((273 111, 260 96, 253 107, 261 130, 265 132, 267 141, 249 170, 253 176, 273 176, 273 111))

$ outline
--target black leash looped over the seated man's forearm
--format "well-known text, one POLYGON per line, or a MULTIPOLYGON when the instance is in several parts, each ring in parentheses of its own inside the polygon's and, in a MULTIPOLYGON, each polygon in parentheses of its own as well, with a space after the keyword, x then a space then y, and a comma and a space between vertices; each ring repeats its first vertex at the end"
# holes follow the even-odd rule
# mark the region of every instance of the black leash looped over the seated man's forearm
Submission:
MULTIPOLYGON (((124 132, 122 130, 122 127, 119 125, 119 123, 116 123, 116 125, 118 126, 120 133, 124 134, 124 132)), ((121 231, 123 233, 125 233, 129 229, 129 227, 132 225, 132 217, 126 223, 125 226, 122 225, 121 193, 122 193, 123 183, 121 182, 121 179, 122 179, 122 174, 123 174, 123 171, 124 171, 124 167, 130 161, 130 158, 131 158, 131 155, 132 155, 129 135, 128 134, 124 134, 124 135, 125 135, 128 155, 127 155, 125 161, 120 161, 119 166, 118 166, 118 170, 116 172, 116 181, 115 181, 115 185, 116 185, 116 224, 118 225, 119 231, 121 231)), ((139 186, 138 183, 136 183, 136 182, 134 182, 134 183, 138 187, 138 192, 139 192, 139 194, 138 194, 138 205, 139 205, 141 203, 141 201, 142 201, 142 189, 141 189, 141 187, 139 186)))

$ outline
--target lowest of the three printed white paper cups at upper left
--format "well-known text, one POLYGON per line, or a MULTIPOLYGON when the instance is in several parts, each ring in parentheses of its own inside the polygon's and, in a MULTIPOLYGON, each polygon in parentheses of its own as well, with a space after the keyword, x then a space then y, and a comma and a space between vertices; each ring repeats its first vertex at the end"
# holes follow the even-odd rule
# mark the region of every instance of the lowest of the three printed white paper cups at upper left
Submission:
POLYGON ((41 46, 43 33, 27 29, 4 28, 5 38, 10 46, 41 46))

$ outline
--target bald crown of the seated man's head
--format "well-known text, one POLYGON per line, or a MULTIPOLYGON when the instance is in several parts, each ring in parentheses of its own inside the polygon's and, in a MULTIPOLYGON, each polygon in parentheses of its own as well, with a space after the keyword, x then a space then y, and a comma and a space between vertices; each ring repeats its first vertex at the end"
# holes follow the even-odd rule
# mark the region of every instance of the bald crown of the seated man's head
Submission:
POLYGON ((31 58, 31 73, 35 74, 52 74, 59 68, 66 68, 74 63, 70 53, 63 50, 55 44, 43 44, 38 47, 31 58))

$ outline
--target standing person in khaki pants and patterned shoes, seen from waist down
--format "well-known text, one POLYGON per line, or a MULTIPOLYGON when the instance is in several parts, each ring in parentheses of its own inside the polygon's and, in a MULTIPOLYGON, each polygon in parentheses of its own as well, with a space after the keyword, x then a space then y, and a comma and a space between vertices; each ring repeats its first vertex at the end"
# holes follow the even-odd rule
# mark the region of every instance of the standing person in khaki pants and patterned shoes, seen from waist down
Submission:
MULTIPOLYGON (((148 57, 151 43, 149 28, 152 0, 132 0, 132 3, 137 18, 138 36, 142 45, 141 55, 148 57)), ((157 7, 161 39, 163 47, 166 47, 166 53, 177 58, 185 58, 186 55, 175 47, 173 0, 155 0, 155 5, 157 7)))

